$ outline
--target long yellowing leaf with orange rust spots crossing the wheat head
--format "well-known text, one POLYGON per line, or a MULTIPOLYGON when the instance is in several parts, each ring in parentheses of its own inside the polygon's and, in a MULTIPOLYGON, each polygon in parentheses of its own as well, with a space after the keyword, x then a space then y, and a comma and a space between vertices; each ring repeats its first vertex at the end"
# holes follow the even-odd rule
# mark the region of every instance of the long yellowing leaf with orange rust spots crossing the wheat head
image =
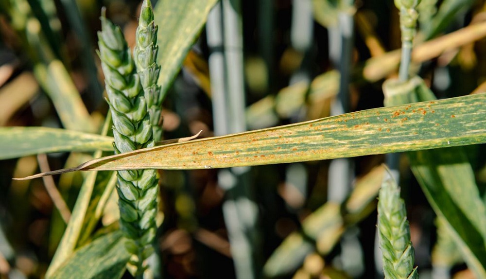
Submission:
POLYGON ((226 168, 479 144, 486 142, 485 113, 482 93, 139 149, 48 174, 226 168))

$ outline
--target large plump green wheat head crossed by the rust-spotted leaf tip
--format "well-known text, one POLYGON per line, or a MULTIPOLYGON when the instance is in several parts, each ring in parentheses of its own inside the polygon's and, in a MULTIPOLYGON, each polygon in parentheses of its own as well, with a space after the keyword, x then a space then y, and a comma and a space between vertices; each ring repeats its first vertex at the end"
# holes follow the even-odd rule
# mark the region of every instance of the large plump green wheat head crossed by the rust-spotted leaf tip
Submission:
MULTIPOLYGON (((142 21, 145 22, 145 19, 142 21)), ((99 55, 113 118, 115 154, 154 146, 147 101, 130 49, 120 28, 106 19, 104 11, 101 21, 102 31, 98 33, 99 55)), ((143 41, 141 34, 137 33, 139 42, 143 41)), ((140 52, 138 63, 146 58, 140 52)), ((125 247, 134 255, 131 263, 137 267, 137 278, 142 278, 146 268, 143 261, 153 253, 152 242, 156 235, 156 171, 118 171, 117 192, 120 197, 120 226, 128 238, 125 247)))

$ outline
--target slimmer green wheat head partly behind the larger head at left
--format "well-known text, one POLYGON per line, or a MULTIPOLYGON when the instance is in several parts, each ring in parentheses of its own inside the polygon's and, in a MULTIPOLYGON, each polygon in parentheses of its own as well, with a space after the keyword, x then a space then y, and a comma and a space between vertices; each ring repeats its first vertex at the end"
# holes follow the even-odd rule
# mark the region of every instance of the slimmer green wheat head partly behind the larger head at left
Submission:
POLYGON ((152 125, 152 134, 155 141, 162 138, 160 111, 163 96, 160 86, 157 86, 160 66, 157 59, 157 30, 154 23, 154 12, 150 0, 143 1, 140 9, 139 27, 137 28, 136 45, 133 51, 135 65, 143 87, 145 101, 152 125))

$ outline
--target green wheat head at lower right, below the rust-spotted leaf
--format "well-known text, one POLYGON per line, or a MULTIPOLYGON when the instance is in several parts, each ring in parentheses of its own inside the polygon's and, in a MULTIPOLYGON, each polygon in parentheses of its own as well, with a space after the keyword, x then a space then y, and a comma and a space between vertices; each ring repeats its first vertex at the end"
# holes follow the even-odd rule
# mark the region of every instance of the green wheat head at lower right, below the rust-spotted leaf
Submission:
POLYGON ((390 174, 382 183, 378 202, 378 230, 385 279, 416 279, 415 253, 400 189, 390 174))

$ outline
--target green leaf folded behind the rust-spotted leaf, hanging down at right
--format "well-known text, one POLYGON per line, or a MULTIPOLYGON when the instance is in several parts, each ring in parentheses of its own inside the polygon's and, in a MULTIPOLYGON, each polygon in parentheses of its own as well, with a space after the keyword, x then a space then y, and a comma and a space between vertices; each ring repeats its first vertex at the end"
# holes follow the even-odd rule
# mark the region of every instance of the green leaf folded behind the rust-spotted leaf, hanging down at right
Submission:
MULTIPOLYGON (((383 89, 387 105, 436 102, 432 101, 435 99, 432 91, 419 77, 406 83, 389 80, 383 84, 383 89)), ((484 112, 478 113, 482 114, 484 123, 484 112)), ((484 129, 478 122, 464 125, 484 129)), ((486 209, 462 148, 422 150, 410 152, 408 156, 422 191, 437 215, 444 217, 445 227, 451 231, 469 268, 478 278, 486 278, 486 209)))

